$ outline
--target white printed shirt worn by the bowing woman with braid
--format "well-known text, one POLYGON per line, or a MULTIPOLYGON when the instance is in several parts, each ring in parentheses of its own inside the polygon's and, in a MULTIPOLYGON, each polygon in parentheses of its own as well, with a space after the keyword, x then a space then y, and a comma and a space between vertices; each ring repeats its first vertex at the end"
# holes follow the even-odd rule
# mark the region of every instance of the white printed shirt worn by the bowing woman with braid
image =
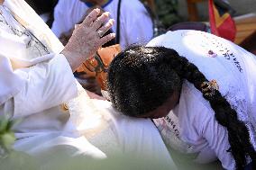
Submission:
MULTIPOLYGON (((256 148, 256 58, 229 40, 202 31, 169 31, 147 46, 175 49, 195 64, 219 91, 250 131, 256 148)), ((194 85, 185 81, 179 103, 166 118, 155 120, 164 140, 185 153, 197 153, 197 161, 219 158, 225 169, 235 169, 227 130, 215 120, 215 112, 194 85)))

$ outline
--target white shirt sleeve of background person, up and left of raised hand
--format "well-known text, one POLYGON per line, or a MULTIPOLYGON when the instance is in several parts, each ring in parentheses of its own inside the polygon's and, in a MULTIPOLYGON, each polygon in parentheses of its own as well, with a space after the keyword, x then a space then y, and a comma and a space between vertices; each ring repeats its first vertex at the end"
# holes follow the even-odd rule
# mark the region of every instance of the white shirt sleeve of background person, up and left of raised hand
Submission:
POLYGON ((66 15, 66 5, 65 0, 59 0, 54 8, 54 21, 51 26, 51 31, 59 38, 61 33, 69 31, 65 25, 66 15))

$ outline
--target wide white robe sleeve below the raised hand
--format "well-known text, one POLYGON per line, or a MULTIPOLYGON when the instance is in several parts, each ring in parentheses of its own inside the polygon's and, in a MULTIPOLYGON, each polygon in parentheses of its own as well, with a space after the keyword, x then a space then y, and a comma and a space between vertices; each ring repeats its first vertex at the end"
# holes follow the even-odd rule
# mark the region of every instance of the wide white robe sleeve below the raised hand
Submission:
POLYGON ((76 80, 62 54, 33 67, 19 69, 17 74, 25 79, 25 85, 14 95, 14 117, 44 111, 78 94, 76 80))

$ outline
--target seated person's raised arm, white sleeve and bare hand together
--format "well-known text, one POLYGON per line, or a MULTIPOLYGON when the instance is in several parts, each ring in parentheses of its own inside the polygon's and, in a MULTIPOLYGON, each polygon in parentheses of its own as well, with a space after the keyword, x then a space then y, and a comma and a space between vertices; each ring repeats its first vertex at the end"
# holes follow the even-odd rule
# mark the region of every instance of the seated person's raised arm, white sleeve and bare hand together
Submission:
POLYGON ((72 72, 105 42, 114 38, 114 34, 105 37, 98 34, 98 31, 105 33, 114 22, 106 22, 108 13, 97 17, 98 13, 99 10, 95 9, 77 26, 61 54, 55 55, 48 62, 16 71, 25 80, 25 85, 14 95, 14 116, 41 112, 76 96, 77 88, 72 72))

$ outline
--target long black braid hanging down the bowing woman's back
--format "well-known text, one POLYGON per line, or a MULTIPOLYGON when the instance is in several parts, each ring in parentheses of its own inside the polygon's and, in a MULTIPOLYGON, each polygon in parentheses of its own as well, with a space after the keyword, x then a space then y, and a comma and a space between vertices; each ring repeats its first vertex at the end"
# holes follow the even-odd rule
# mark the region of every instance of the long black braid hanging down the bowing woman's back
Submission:
MULTIPOLYGON (((170 50, 170 53, 173 54, 173 51, 170 50)), ((203 82, 208 82, 208 80, 194 64, 187 60, 187 58, 176 55, 170 56, 172 57, 170 60, 176 60, 170 61, 170 63, 178 76, 187 79, 187 81, 195 85, 197 90, 202 92, 204 98, 210 103, 212 109, 215 111, 215 119, 227 129, 228 140, 231 146, 229 150, 233 154, 236 168, 242 169, 246 166, 246 158, 248 156, 251 157, 252 165, 254 167, 256 153, 251 145, 248 129, 242 121, 238 120, 237 112, 232 109, 230 103, 226 101, 219 91, 215 90, 215 94, 210 96, 202 91, 201 85, 203 82)))

